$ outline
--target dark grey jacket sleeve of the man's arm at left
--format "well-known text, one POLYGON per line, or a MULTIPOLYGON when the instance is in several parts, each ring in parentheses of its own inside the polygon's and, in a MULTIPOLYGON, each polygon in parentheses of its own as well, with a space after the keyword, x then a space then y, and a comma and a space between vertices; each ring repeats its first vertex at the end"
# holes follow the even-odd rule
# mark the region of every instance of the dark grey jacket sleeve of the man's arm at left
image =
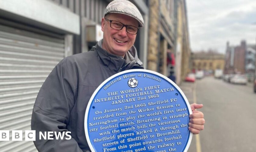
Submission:
POLYGON ((76 140, 70 139, 70 136, 65 135, 63 140, 57 140, 55 135, 53 140, 39 139, 39 132, 69 131, 66 126, 69 123, 69 114, 74 105, 77 88, 77 78, 72 78, 74 73, 75 69, 69 67, 63 59, 49 74, 37 95, 31 129, 36 130, 34 144, 39 152, 82 152, 76 140))

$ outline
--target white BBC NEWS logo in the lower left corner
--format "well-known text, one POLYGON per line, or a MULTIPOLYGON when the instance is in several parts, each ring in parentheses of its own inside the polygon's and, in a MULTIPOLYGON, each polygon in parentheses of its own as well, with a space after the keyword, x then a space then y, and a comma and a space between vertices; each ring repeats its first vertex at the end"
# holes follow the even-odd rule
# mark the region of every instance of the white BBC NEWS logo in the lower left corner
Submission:
MULTIPOLYGON (((12 130, 12 141, 23 141, 23 130, 12 130)), ((70 140, 71 132, 39 132, 39 140, 70 140)), ((10 140, 10 130, 0 130, 0 141, 10 140)), ((35 141, 36 140, 36 130, 25 130, 25 141, 35 141)))

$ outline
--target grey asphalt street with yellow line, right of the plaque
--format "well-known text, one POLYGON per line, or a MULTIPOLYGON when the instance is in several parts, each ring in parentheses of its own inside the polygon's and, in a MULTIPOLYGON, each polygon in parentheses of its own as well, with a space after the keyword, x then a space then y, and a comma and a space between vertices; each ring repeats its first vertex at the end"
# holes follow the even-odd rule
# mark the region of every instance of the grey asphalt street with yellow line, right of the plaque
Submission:
POLYGON ((234 85, 205 77, 195 84, 183 82, 181 89, 190 103, 204 105, 200 109, 206 121, 204 130, 193 136, 189 152, 256 150, 256 94, 252 84, 234 85))

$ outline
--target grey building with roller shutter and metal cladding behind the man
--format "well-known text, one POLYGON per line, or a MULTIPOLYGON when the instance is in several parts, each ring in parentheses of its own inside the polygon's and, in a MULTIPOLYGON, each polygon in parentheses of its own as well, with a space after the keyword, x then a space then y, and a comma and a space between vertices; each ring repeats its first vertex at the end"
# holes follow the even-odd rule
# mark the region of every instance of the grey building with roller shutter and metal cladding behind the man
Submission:
MULTIPOLYGON (((44 80, 64 57, 90 50, 103 37, 101 19, 109 2, 0 2, 0 130, 31 129, 33 105, 44 80)), ((131 2, 145 22, 135 46, 147 67, 149 9, 146 1, 131 2)), ((0 151, 37 150, 31 141, 10 140, 0 143, 0 151)))

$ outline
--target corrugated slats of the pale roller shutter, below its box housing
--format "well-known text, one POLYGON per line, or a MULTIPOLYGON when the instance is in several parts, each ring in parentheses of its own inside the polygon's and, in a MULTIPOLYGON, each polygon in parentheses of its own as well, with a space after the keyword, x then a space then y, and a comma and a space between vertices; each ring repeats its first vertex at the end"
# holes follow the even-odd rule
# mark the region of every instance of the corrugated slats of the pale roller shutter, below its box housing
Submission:
POLYGON ((25 141, 37 93, 48 74, 65 56, 64 37, 15 29, 0 24, 0 130, 23 130, 23 141, 0 141, 0 151, 37 151, 25 141), (59 37, 59 38, 56 38, 59 37))

